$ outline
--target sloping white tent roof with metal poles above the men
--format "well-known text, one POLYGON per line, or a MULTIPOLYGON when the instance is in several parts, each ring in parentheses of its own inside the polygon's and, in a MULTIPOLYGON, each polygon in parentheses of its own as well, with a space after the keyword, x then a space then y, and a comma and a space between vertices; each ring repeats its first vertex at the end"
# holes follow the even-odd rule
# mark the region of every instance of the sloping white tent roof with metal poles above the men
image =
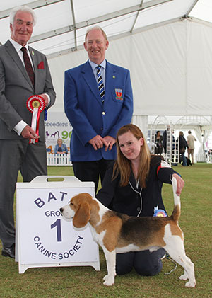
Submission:
POLYGON ((112 40, 180 18, 212 23, 211 0, 8 0, 1 1, 0 44, 10 36, 9 12, 17 5, 35 9, 30 44, 48 58, 78 50, 86 30, 100 25, 112 40))

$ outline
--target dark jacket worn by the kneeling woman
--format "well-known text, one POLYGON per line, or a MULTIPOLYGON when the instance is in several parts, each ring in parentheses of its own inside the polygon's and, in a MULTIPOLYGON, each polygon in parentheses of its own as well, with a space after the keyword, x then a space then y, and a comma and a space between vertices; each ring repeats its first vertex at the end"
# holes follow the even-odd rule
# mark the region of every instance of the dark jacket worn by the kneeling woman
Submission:
POLYGON ((146 188, 136 186, 133 173, 129 183, 121 187, 120 175, 112 180, 113 163, 107 169, 99 190, 97 199, 111 210, 128 214, 129 216, 153 216, 155 208, 165 210, 161 190, 164 183, 172 183, 172 174, 177 173, 161 156, 151 158, 151 166, 146 181, 146 188))

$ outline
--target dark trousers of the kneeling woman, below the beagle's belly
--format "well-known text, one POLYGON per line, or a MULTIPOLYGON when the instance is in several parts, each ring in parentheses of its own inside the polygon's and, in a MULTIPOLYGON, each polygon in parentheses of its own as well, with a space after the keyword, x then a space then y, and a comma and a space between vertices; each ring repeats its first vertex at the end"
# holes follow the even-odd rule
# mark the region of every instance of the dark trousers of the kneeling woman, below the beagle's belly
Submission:
POLYGON ((130 253, 117 253, 117 275, 129 273, 133 268, 139 275, 153 276, 160 273, 163 264, 160 260, 165 255, 163 248, 158 251, 136 251, 130 253))

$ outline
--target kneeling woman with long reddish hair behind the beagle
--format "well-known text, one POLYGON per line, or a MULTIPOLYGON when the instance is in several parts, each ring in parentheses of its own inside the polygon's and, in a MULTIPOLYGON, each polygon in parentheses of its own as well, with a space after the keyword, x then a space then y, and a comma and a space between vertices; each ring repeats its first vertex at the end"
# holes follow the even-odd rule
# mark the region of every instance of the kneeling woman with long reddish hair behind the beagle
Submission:
MULTIPOLYGON (((151 156, 139 127, 124 125, 117 132, 117 161, 107 168, 96 197, 111 210, 129 216, 166 216, 161 190, 163 183, 172 184, 172 177, 177 179, 179 195, 184 180, 162 156, 151 156)), ((134 268, 140 275, 155 275, 162 270, 164 255, 163 248, 152 253, 117 253, 117 274, 129 273, 134 268)))

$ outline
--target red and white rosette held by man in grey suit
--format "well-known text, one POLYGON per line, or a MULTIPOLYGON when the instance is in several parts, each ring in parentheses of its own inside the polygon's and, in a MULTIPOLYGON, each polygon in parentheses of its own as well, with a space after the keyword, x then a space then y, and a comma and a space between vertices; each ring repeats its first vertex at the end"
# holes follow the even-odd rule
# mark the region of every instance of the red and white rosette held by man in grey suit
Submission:
MULTIPOLYGON (((31 113, 33 113, 31 127, 38 135, 40 112, 42 112, 42 110, 45 109, 44 98, 42 98, 42 96, 39 96, 39 95, 30 96, 27 100, 27 108, 31 113)), ((37 143, 38 139, 30 139, 30 143, 35 143, 35 142, 37 143)))

